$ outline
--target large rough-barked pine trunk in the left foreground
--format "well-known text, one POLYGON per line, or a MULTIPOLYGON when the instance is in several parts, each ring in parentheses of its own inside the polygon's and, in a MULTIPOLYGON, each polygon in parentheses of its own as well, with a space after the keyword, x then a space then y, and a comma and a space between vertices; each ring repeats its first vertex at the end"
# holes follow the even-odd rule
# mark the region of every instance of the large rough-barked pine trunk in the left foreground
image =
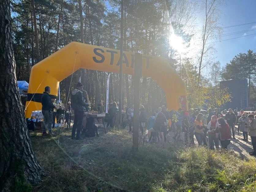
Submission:
POLYGON ((31 147, 24 111, 15 75, 16 64, 12 47, 10 0, 0 3, 0 189, 11 186, 17 168, 24 163, 24 176, 30 183, 41 180, 38 164, 31 147))

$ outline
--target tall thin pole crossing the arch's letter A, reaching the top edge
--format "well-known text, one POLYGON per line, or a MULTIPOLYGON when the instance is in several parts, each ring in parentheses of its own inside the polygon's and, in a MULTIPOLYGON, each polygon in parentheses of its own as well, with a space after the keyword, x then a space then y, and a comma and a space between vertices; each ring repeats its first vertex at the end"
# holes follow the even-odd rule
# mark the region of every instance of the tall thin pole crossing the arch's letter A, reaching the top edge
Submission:
POLYGON ((122 78, 123 78, 123 10, 124 0, 121 1, 121 39, 120 39, 120 58, 119 58, 119 125, 122 125, 122 78))

